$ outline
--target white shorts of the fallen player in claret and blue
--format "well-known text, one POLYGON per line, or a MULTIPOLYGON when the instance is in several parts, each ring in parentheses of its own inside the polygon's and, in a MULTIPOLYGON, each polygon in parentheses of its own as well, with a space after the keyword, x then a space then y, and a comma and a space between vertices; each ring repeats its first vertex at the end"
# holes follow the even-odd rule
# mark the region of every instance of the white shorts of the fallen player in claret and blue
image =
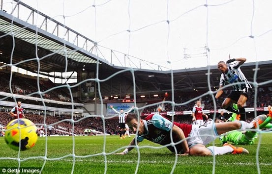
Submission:
POLYGON ((192 125, 192 130, 188 136, 189 148, 196 144, 208 145, 216 139, 217 130, 212 119, 208 119, 203 125, 192 125))

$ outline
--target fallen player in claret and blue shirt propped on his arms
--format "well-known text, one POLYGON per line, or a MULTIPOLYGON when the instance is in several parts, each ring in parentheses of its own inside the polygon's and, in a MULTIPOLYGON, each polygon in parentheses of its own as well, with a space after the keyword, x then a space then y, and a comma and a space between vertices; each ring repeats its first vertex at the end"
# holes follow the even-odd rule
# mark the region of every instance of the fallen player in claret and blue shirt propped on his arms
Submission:
POLYGON ((203 125, 180 124, 171 122, 167 118, 159 114, 151 114, 145 119, 140 119, 135 113, 129 113, 126 117, 126 124, 137 135, 130 142, 129 147, 116 154, 127 154, 128 151, 135 147, 135 143, 139 144, 144 139, 150 140, 160 145, 168 145, 167 148, 179 155, 221 155, 225 153, 248 153, 246 149, 236 148, 230 144, 224 144, 223 147, 205 146, 211 143, 216 136, 231 130, 239 129, 243 131, 249 128, 257 127, 257 124, 263 123, 267 117, 258 116, 251 123, 244 121, 234 121, 226 123, 214 123, 212 119, 208 119, 203 125), (138 128, 138 131, 137 131, 138 128), (171 146, 171 129, 175 148, 171 146))

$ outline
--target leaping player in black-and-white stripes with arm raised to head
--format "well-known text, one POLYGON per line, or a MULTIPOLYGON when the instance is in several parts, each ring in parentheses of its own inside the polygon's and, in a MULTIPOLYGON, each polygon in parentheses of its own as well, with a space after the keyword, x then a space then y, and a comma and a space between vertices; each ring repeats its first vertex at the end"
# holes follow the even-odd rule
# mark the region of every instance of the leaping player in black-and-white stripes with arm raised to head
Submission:
POLYGON ((240 67, 246 61, 246 58, 230 59, 226 63, 220 61, 217 64, 218 70, 222 73, 220 76, 219 91, 215 95, 218 99, 223 94, 223 86, 233 84, 233 91, 229 94, 222 103, 222 108, 240 114, 240 120, 245 121, 244 103, 252 92, 252 87, 243 75, 240 67), (234 62, 233 64, 230 64, 234 62), (227 66, 227 64, 230 64, 227 66), (233 107, 233 103, 237 103, 238 109, 233 107))

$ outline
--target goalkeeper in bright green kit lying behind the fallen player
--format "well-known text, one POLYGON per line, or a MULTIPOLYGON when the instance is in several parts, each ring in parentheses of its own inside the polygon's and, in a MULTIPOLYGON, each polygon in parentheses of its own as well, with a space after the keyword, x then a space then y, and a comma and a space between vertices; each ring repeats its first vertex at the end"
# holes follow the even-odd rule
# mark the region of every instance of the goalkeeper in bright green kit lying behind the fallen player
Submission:
MULTIPOLYGON (((269 114, 267 119, 259 125, 259 129, 263 128, 272 128, 272 107, 268 106, 269 114)), ((262 115, 262 117, 266 117, 266 115, 262 115)), ((230 133, 228 133, 225 136, 221 136, 220 142, 221 144, 232 142, 236 145, 252 145, 254 143, 254 140, 258 137, 258 134, 256 131, 237 131, 233 130, 230 133)))

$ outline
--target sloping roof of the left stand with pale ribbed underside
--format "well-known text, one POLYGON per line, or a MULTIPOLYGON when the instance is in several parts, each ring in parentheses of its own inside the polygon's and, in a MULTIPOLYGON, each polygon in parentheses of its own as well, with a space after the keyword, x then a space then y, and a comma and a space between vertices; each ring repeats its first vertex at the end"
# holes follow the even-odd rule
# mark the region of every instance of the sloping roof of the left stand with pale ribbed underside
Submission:
POLYGON ((81 52, 81 48, 71 44, 64 43, 62 39, 44 30, 30 25, 18 18, 0 10, 0 51, 1 60, 10 63, 12 55, 12 64, 18 67, 27 67, 29 71, 37 71, 38 63, 36 51, 40 61, 40 71, 64 72, 66 58, 68 61, 68 71, 74 71, 83 64, 95 64, 94 54, 81 52), (36 34, 36 31, 38 34, 36 34), (14 43, 13 37, 14 36, 14 43), (65 45, 65 51, 64 51, 65 45), (13 48, 13 46, 15 46, 13 48), (37 48, 36 48, 37 46, 37 48), (12 50, 14 51, 12 52, 12 50), (13 54, 12 54, 13 53, 13 54))

